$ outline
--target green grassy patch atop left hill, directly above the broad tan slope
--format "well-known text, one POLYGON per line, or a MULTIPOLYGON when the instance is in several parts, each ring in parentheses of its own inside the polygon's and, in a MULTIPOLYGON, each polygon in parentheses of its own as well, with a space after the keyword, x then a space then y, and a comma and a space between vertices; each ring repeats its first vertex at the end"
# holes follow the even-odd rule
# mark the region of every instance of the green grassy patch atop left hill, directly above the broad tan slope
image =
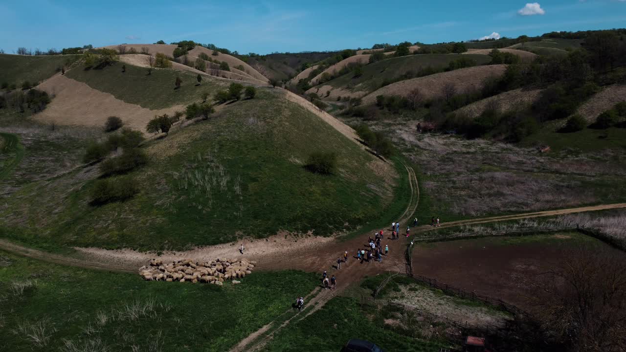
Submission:
POLYGON ((111 93, 115 98, 126 103, 137 104, 149 109, 168 108, 173 105, 187 105, 200 100, 202 93, 213 95, 215 91, 227 86, 227 81, 215 80, 203 76, 202 85, 197 86, 196 75, 187 71, 155 69, 148 75, 146 68, 117 62, 101 70, 85 70, 78 66, 66 73, 68 78, 81 81, 96 90, 111 93), (175 90, 176 77, 183 81, 175 90))

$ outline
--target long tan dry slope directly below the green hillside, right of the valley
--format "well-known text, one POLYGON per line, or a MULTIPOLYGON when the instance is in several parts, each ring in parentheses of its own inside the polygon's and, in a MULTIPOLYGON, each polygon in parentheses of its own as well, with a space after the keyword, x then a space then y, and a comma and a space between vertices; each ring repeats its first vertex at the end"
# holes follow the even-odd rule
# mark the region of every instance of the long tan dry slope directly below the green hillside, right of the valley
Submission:
POLYGON ((411 80, 399 81, 391 85, 379 88, 363 98, 364 104, 373 104, 377 95, 407 96, 411 90, 418 88, 424 99, 438 98, 443 96, 443 88, 446 85, 454 85, 457 93, 475 91, 483 87, 483 81, 490 76, 501 76, 506 70, 506 65, 487 65, 461 68, 449 72, 437 73, 411 80))

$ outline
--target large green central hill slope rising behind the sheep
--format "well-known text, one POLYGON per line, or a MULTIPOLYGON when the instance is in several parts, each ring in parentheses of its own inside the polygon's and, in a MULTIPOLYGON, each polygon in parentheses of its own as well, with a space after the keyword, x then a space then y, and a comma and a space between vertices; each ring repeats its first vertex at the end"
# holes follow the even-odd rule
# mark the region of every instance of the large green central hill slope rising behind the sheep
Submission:
POLYGON ((126 202, 88 204, 97 168, 25 185, 0 209, 1 236, 180 249, 280 230, 327 235, 377 219, 393 190, 367 167, 375 158, 282 94, 261 90, 148 145, 148 165, 131 173, 140 194, 126 202), (304 168, 318 150, 337 152, 334 175, 304 168))

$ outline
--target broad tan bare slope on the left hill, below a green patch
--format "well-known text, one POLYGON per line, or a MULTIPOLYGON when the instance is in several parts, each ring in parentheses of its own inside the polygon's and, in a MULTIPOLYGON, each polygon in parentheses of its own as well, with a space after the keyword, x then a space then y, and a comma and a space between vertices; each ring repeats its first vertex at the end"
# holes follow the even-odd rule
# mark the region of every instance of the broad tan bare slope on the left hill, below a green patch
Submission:
POLYGON ((155 115, 164 113, 172 115, 175 111, 184 110, 182 105, 160 110, 142 108, 62 75, 44 81, 37 88, 55 97, 46 109, 34 115, 34 118, 57 125, 102 127, 108 116, 120 116, 125 126, 143 132, 148 121, 155 115))

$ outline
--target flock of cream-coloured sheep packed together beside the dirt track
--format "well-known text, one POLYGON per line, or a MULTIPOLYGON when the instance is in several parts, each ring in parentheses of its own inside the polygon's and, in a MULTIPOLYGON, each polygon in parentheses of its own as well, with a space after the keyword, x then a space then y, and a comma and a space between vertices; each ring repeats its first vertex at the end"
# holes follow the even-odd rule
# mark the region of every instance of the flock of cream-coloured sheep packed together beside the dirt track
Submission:
POLYGON ((160 259, 152 259, 150 266, 139 268, 139 274, 148 281, 190 281, 207 282, 222 286, 225 280, 232 280, 233 284, 239 284, 240 277, 252 274, 255 261, 247 259, 215 259, 208 262, 193 262, 192 259, 173 261, 164 264, 160 259))

